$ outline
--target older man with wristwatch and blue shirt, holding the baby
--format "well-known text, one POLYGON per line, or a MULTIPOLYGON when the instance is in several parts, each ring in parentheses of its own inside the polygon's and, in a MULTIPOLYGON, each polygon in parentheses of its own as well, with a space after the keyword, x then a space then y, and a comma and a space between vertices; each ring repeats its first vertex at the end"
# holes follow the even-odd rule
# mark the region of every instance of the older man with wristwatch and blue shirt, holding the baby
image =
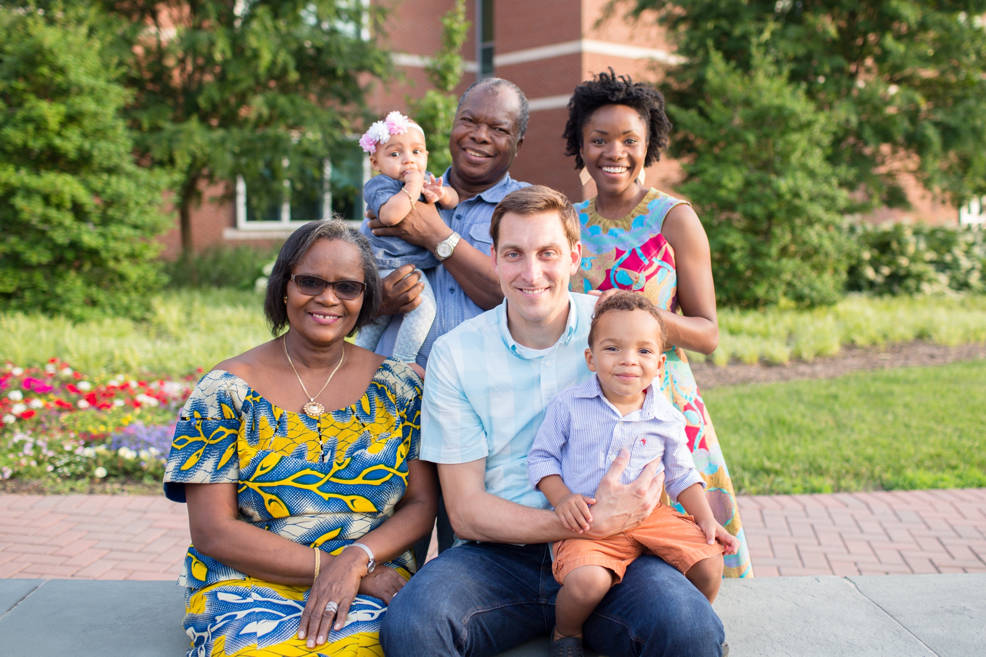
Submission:
MULTIPOLYGON (((396 235, 424 246, 442 262, 427 273, 438 311, 418 352, 417 363, 422 367, 436 338, 503 299, 489 260, 489 224, 496 204, 528 185, 508 172, 524 145, 527 128, 528 99, 516 85, 500 78, 473 84, 458 102, 449 140, 452 166, 445 172, 445 179, 458 192, 458 207, 440 210, 421 203, 396 226, 386 227, 375 220, 369 224, 375 234, 396 235)), ((381 314, 406 312, 421 302, 418 295, 423 286, 412 270, 406 265, 384 280, 381 314)), ((398 314, 390 322, 378 353, 392 353, 400 320, 398 314)))

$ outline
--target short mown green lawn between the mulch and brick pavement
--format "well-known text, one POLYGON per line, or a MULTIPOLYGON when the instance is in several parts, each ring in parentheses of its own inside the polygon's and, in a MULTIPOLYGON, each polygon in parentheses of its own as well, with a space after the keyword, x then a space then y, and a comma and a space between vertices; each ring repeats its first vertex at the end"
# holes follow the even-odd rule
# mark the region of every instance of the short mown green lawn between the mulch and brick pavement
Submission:
POLYGON ((986 361, 703 396, 737 493, 986 486, 986 361))

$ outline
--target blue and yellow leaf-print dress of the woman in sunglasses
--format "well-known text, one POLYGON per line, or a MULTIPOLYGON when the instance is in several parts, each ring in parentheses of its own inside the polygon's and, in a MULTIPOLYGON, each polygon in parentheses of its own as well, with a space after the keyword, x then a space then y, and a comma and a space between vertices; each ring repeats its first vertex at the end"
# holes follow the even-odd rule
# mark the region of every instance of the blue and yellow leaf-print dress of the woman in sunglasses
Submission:
MULTIPOLYGON (((387 359, 354 405, 318 419, 274 406, 238 376, 210 371, 181 411, 165 493, 184 484, 237 484, 242 520, 335 555, 393 515, 418 458, 421 381, 387 359)), ((405 577, 407 551, 387 562, 405 577)), ((298 623, 309 587, 249 577, 188 548, 178 583, 187 587, 183 626, 189 657, 382 656, 383 601, 358 595, 346 624, 309 649, 298 623)))

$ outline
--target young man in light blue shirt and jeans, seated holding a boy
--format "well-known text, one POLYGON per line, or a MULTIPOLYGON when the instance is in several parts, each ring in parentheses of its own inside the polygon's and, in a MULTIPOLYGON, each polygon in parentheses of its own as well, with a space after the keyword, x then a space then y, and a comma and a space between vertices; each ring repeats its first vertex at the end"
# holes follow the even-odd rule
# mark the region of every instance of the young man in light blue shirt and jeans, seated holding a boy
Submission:
MULTIPOLYGON (((546 187, 507 195, 490 223, 504 302, 436 341, 422 404, 421 458, 438 463, 462 545, 427 563, 390 602, 387 657, 495 655, 554 623, 548 544, 573 538, 528 483, 527 458, 548 403, 586 380, 596 298, 570 294, 580 264, 571 203, 546 187)), ((588 532, 630 530, 658 503, 657 463, 623 485, 621 454, 603 477, 588 532)), ((705 597, 660 558, 637 558, 584 625, 608 657, 721 655, 723 626, 705 597)))

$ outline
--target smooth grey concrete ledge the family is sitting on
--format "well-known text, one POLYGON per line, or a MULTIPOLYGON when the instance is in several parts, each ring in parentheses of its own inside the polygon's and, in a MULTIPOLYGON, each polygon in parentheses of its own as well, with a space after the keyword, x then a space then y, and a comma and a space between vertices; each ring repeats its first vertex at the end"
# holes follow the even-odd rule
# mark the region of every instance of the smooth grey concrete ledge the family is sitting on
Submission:
MULTIPOLYGON (((170 582, 0 579, 0 646, 4 657, 182 657, 182 598, 170 582)), ((715 609, 733 657, 986 655, 986 574, 726 580, 715 609)), ((545 654, 539 637, 500 657, 545 654)))

